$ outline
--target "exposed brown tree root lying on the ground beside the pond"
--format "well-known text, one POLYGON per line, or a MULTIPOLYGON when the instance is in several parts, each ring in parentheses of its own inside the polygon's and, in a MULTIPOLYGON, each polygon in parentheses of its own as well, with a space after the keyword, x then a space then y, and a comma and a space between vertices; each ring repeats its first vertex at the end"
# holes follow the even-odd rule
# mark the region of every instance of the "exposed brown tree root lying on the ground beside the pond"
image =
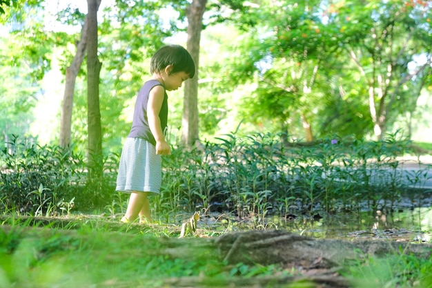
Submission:
POLYGON ((413 253, 431 256, 431 244, 411 244, 390 240, 313 239, 284 231, 246 231, 215 238, 224 260, 258 262, 262 265, 282 263, 288 267, 331 268, 345 260, 390 253, 413 253))

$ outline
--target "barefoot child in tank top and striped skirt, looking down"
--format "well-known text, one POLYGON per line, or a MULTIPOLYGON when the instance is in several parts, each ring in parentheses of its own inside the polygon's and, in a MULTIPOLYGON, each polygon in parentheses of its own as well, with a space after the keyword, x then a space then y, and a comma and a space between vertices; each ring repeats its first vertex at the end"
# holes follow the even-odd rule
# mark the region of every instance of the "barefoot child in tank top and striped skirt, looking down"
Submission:
POLYGON ((178 45, 157 50, 150 62, 152 77, 144 83, 135 102, 132 128, 121 152, 116 191, 130 193, 121 222, 152 223, 148 196, 159 194, 162 180, 161 155, 170 155, 165 140, 168 96, 183 81, 193 78, 195 64, 189 52, 178 45))

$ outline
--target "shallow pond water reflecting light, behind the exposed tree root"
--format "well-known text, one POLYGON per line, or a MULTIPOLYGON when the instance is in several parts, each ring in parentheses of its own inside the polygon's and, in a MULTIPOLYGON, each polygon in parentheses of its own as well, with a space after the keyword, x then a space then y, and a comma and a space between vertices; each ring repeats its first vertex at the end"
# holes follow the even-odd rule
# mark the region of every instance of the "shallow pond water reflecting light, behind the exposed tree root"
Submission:
MULTIPOLYGON (((415 207, 413 199, 402 199, 390 209, 349 211, 337 213, 315 212, 314 215, 292 213, 268 215, 266 220, 239 219, 221 213, 210 213, 202 218, 202 227, 215 231, 244 231, 248 229, 281 229, 310 236, 331 239, 393 239, 397 241, 431 242, 432 198, 430 193, 415 207), (229 218, 229 219, 228 219, 229 218)), ((385 205, 384 205, 385 206, 385 205)))

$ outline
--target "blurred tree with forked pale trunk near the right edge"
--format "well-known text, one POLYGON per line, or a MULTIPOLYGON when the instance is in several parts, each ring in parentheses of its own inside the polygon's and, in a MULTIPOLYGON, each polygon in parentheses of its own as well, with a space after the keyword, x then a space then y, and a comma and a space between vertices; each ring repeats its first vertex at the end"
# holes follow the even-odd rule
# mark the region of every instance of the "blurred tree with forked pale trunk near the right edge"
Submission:
POLYGON ((350 5, 336 1, 326 11, 329 21, 347 35, 344 50, 367 86, 373 133, 378 140, 409 99, 420 95, 414 88, 415 79, 427 76, 422 71, 431 65, 432 57, 430 8, 431 3, 417 0, 374 0, 366 5, 358 0, 350 5), (416 55, 424 55, 425 61, 409 69, 416 55))

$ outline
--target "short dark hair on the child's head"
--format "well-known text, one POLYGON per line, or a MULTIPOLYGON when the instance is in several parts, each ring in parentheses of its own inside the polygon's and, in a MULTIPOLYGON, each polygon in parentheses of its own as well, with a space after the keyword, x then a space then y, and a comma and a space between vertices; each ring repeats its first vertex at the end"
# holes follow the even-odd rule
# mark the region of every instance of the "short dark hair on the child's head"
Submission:
POLYGON ((150 73, 164 70, 166 66, 172 65, 170 74, 185 72, 189 78, 195 75, 195 63, 188 50, 179 45, 168 45, 157 50, 150 62, 150 73))

